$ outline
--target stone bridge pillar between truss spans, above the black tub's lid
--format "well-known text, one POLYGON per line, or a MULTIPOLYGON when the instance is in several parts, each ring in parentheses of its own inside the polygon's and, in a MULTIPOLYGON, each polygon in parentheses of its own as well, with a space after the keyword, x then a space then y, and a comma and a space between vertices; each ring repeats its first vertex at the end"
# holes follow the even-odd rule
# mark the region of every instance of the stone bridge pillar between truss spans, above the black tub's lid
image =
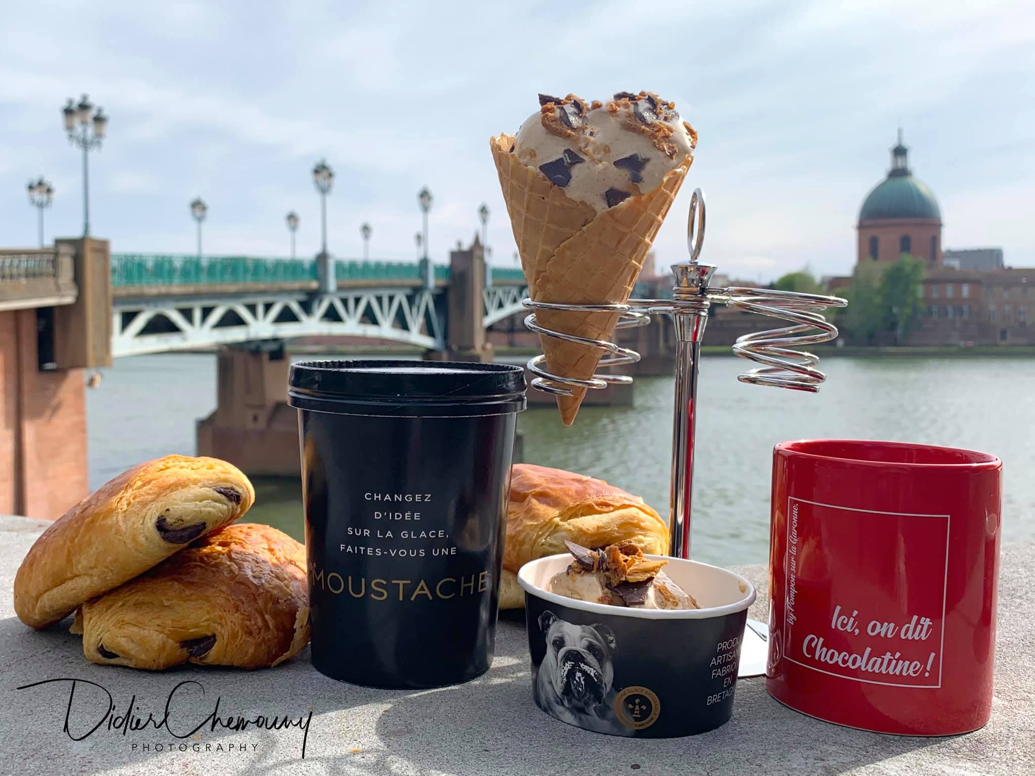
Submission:
POLYGON ((471 247, 449 253, 449 298, 446 305, 445 351, 431 351, 425 357, 438 361, 493 360, 493 346, 485 337, 485 259, 475 235, 471 247))

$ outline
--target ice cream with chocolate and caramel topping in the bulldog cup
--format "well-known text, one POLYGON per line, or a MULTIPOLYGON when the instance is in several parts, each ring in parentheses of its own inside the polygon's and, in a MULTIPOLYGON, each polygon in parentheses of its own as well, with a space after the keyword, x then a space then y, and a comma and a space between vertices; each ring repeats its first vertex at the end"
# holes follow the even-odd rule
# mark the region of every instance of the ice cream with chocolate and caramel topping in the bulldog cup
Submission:
POLYGON ((565 542, 574 559, 546 586, 551 593, 579 601, 645 609, 701 608, 661 571, 668 561, 646 558, 634 544, 610 544, 588 549, 565 542))

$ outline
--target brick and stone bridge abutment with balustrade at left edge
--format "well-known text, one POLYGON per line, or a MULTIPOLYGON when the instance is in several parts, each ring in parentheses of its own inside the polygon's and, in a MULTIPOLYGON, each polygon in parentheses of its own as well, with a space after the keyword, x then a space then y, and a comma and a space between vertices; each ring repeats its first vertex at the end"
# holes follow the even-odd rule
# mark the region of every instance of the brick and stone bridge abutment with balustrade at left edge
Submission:
POLYGON ((111 365, 107 240, 0 250, 0 513, 56 519, 89 487, 84 368, 111 365))

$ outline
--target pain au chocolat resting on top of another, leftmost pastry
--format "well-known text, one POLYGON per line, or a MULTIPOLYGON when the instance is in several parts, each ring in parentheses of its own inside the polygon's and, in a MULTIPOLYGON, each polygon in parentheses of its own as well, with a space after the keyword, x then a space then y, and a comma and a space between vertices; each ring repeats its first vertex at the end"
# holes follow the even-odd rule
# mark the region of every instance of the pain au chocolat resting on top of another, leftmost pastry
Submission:
POLYGON ((134 467, 52 524, 14 576, 14 611, 45 628, 147 571, 255 502, 237 468, 168 455, 134 467))

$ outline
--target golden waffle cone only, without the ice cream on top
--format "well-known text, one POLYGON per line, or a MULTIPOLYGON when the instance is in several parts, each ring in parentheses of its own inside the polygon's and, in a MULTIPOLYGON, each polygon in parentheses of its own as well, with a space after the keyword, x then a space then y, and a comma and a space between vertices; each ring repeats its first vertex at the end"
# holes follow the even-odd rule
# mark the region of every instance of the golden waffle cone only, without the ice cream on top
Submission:
MULTIPOLYGON (((667 172, 659 185, 598 211, 565 193, 538 169, 512 153, 514 138, 490 142, 507 212, 534 301, 562 304, 628 301, 650 249, 690 168, 692 156, 667 172)), ((612 312, 538 310, 546 329, 589 339, 610 339, 619 316, 612 312)), ((604 351, 556 337, 539 336, 548 370, 588 380, 604 351)), ((558 396, 561 420, 571 425, 586 395, 558 396)))

